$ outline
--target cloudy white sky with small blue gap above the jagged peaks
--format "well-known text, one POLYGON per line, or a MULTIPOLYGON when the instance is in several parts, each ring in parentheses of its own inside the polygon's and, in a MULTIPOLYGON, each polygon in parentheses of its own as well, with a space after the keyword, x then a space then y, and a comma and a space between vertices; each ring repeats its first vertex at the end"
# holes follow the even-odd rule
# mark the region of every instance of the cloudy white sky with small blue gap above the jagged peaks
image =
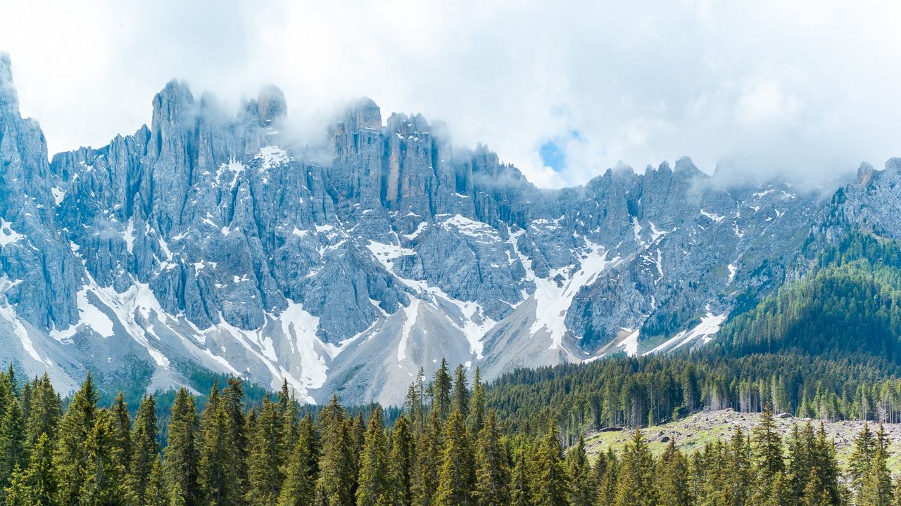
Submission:
POLYGON ((311 132, 366 95, 540 186, 683 155, 817 178, 901 156, 898 5, 0 0, 0 50, 51 152, 137 130, 178 77, 235 106, 274 83, 311 132))

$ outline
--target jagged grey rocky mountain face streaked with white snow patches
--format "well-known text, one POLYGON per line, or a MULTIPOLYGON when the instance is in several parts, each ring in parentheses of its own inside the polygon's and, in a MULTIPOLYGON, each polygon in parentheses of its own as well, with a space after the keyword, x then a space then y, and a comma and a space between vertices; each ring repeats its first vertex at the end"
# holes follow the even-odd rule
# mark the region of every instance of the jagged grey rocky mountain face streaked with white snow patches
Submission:
MULTIPOLYGON (((399 402, 441 357, 490 378, 695 346, 781 282, 832 205, 687 158, 539 190, 369 99, 330 127, 327 164, 282 133, 274 86, 234 113, 177 81, 152 104, 150 127, 48 163, 0 56, 0 358, 65 388, 87 368, 150 391, 199 368, 399 402)), ((847 192, 855 219, 901 222, 894 197, 847 192)))

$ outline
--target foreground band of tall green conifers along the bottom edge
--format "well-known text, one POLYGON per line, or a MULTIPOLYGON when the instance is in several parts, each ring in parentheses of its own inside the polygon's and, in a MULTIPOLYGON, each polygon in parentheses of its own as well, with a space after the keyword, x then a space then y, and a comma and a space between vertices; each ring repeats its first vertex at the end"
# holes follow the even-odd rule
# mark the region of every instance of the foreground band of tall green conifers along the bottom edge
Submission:
MULTIPOLYGON (((478 375, 478 370, 477 373, 478 375)), ((198 410, 178 391, 164 423, 152 395, 134 415, 98 405, 90 375, 68 402, 44 375, 0 373, 0 484, 5 504, 633 506, 901 504, 881 424, 864 426, 840 466, 822 425, 787 437, 769 406, 728 440, 653 456, 635 429, 619 453, 589 458, 558 425, 526 429, 490 407, 485 384, 442 365, 410 387, 388 422, 333 399, 304 409, 287 386, 247 405, 241 379, 214 384, 198 410)), ((509 414, 509 413, 508 413, 509 414)), ((528 424, 529 421, 519 423, 528 424)))

